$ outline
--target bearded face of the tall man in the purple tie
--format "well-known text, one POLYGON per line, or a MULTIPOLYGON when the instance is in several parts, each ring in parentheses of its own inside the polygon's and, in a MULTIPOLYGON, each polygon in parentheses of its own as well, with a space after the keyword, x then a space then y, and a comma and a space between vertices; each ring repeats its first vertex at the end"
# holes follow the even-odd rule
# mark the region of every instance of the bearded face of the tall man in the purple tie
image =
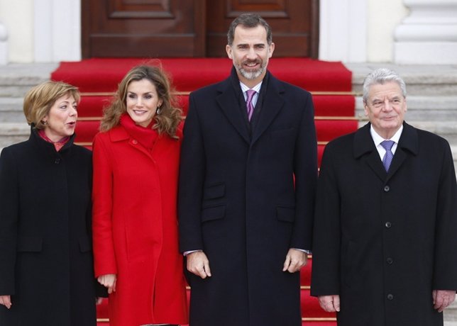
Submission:
POLYGON ((233 43, 226 45, 227 55, 233 60, 238 78, 248 87, 262 81, 274 50, 275 43, 268 45, 267 31, 261 25, 255 28, 236 26, 233 43))

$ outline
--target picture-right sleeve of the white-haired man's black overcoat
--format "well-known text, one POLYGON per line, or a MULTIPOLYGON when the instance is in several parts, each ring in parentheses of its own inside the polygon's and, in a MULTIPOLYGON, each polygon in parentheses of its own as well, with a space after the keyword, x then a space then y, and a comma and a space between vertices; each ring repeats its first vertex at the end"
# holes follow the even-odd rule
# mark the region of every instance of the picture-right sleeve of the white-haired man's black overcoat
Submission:
POLYGON ((433 288, 457 290, 457 185, 451 148, 444 145, 438 190, 433 288))

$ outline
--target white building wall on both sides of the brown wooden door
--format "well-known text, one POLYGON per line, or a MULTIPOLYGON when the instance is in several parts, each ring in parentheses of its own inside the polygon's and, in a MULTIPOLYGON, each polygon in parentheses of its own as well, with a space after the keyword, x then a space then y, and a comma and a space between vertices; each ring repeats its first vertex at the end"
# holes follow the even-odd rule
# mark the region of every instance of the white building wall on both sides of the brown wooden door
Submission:
MULTIPOLYGON (((319 59, 457 64, 457 0, 320 0, 319 59)), ((80 0, 0 0, 0 64, 81 60, 80 0)))

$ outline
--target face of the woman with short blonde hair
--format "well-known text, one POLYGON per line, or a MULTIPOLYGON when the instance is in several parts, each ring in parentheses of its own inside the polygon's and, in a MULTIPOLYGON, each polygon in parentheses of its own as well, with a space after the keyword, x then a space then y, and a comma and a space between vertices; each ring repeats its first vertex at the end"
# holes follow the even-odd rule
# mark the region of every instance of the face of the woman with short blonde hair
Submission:
POLYGON ((75 98, 70 94, 61 96, 43 118, 45 135, 53 142, 73 135, 77 117, 77 101, 75 98))

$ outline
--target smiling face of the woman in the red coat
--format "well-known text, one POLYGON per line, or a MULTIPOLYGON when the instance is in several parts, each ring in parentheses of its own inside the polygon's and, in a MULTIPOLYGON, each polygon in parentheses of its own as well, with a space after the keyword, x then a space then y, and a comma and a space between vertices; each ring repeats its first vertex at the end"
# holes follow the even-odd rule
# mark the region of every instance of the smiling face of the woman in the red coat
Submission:
POLYGON ((142 127, 152 122, 157 108, 162 105, 154 84, 148 79, 131 81, 127 87, 126 107, 128 116, 142 127))

